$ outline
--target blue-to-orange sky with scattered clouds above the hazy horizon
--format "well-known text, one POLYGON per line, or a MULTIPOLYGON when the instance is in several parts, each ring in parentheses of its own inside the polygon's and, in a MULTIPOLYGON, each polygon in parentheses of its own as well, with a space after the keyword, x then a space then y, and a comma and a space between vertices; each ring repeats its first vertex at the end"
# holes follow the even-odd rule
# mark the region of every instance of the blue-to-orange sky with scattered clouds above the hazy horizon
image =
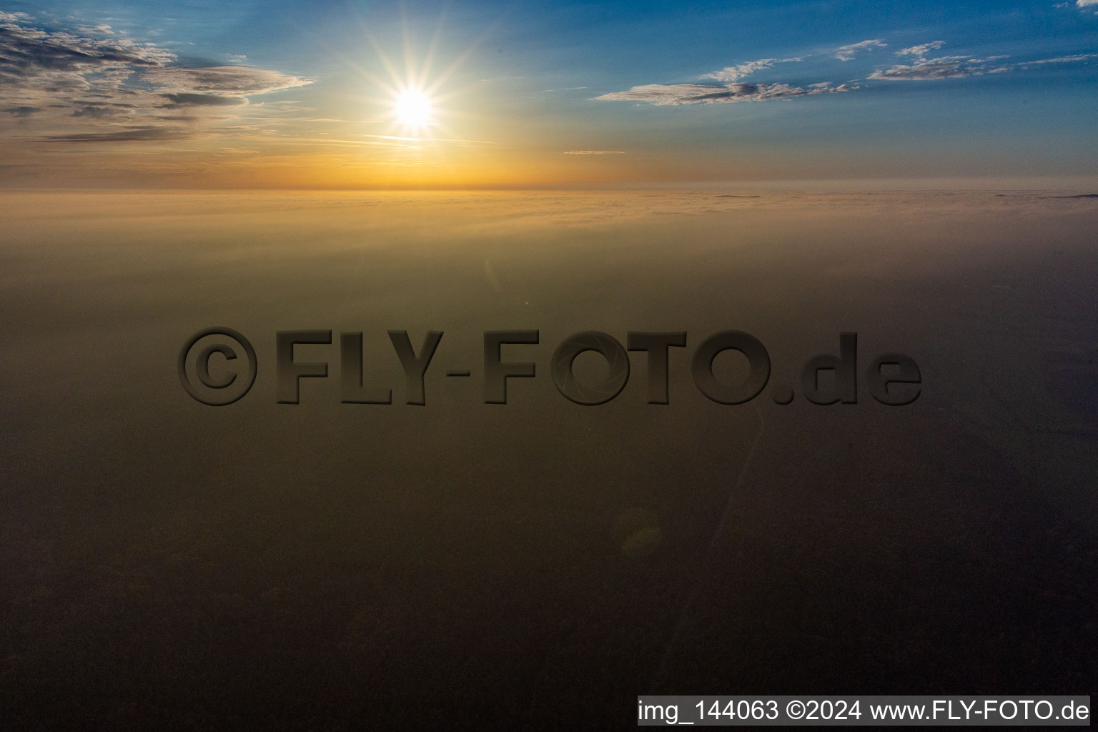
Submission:
POLYGON ((0 135, 27 184, 88 161, 134 184, 309 187, 1098 164, 1098 0, 0 8, 0 135), (433 105, 417 129, 393 116, 406 87, 433 105))

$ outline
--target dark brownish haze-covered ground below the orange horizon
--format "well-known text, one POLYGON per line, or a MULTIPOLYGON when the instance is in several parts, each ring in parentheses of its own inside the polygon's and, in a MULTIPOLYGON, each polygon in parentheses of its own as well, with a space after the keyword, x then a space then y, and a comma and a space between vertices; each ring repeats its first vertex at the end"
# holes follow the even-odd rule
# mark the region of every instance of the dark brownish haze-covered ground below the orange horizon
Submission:
POLYGON ((2 729, 625 729, 648 692, 1096 691, 1093 200, 5 193, 0 212, 2 729), (216 408, 176 370, 214 325, 259 367, 216 408), (298 348, 329 378, 276 404, 288 329, 361 330, 394 403, 339 403, 336 342, 298 348), (426 406, 389 329, 417 350, 445 333, 426 406), (540 330, 505 347, 538 369, 507 405, 483 404, 495 329, 540 330), (687 331, 671 403, 646 403, 642 353, 613 402, 561 396, 550 357, 589 329, 687 331), (688 371, 727 329, 773 364, 739 406, 688 371), (843 330, 859 403, 809 404, 800 364, 843 330), (887 351, 922 372, 910 406, 862 383, 887 351))

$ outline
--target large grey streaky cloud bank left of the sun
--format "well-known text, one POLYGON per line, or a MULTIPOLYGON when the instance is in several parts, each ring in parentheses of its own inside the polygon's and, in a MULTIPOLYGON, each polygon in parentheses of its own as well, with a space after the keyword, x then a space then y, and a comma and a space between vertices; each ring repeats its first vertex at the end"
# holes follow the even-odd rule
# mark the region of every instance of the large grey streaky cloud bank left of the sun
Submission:
POLYGON ((251 95, 311 82, 248 66, 183 66, 172 52, 107 25, 48 30, 25 13, 0 11, 0 94, 8 102, 0 111, 33 115, 47 133, 43 142, 176 139, 193 134, 203 108, 243 108, 251 95), (166 108, 191 110, 189 127, 171 126, 166 108))

